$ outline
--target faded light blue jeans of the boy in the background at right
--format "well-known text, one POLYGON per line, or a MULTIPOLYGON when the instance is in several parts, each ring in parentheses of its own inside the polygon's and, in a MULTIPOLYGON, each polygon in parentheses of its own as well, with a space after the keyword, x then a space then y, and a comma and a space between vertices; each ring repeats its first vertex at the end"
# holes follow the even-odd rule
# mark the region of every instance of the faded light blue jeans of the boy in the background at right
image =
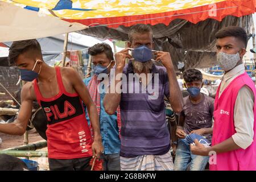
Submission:
POLYGON ((209 156, 193 155, 189 144, 179 139, 174 160, 175 171, 185 171, 189 164, 190 171, 203 171, 208 160, 209 156))

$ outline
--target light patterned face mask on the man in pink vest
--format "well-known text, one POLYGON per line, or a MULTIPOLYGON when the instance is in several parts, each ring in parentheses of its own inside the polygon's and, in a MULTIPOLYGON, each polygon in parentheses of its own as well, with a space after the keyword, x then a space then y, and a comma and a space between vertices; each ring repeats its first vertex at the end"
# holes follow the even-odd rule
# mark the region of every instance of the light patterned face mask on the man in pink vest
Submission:
POLYGON ((238 61, 240 61, 239 52, 232 55, 224 52, 219 52, 217 54, 217 63, 225 72, 230 71, 236 67, 238 61))

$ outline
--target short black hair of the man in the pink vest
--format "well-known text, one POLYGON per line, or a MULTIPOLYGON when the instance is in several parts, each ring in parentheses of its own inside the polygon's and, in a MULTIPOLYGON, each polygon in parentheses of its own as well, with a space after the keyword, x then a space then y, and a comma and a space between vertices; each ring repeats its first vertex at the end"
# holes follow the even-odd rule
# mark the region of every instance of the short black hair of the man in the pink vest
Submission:
POLYGON ((222 39, 227 36, 234 36, 245 44, 245 48, 247 47, 248 36, 244 28, 236 26, 225 27, 215 34, 216 39, 222 39))

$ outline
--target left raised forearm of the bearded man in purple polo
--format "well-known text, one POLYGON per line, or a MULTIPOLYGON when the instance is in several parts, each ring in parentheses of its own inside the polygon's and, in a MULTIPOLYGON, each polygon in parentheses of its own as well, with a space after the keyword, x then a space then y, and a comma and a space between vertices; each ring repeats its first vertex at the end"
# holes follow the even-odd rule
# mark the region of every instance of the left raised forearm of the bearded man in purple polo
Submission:
POLYGON ((122 82, 121 80, 115 80, 118 74, 122 74, 123 69, 115 69, 115 77, 110 82, 110 87, 108 90, 108 93, 105 94, 104 97, 104 108, 106 113, 112 115, 117 110, 117 107, 121 101, 121 88, 116 88, 116 85, 119 84, 119 82, 122 82), (118 90, 117 90, 118 89, 118 90))

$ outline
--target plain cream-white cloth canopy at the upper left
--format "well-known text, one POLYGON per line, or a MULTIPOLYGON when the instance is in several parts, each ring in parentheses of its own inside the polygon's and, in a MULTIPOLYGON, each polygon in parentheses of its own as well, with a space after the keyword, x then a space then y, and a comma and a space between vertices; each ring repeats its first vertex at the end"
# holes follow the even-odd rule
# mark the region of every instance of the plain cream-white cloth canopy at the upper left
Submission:
POLYGON ((86 28, 80 23, 69 23, 2 1, 0 17, 0 42, 43 38, 86 28))

